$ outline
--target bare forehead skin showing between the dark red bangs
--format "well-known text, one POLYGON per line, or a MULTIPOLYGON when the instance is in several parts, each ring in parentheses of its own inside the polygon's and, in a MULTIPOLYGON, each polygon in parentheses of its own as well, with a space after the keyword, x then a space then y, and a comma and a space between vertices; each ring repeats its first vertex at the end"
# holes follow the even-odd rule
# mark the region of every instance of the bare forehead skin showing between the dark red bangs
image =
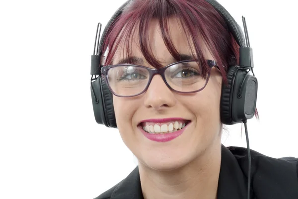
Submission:
MULTIPOLYGON (((147 42, 150 53, 154 56, 156 60, 158 60, 161 64, 169 64, 173 62, 173 56, 169 52, 166 44, 167 42, 171 42, 174 48, 177 50, 179 54, 183 55, 193 55, 194 52, 194 42, 191 39, 191 34, 183 28, 183 24, 176 17, 168 18, 168 29, 161 30, 159 26, 159 21, 157 19, 152 19, 149 22, 148 29, 145 38, 147 42), (162 31, 166 31, 168 33, 168 41, 165 42, 163 38, 162 31)), ((135 61, 142 61, 145 64, 147 61, 144 58, 144 54, 141 50, 140 44, 140 29, 139 26, 136 26, 135 30, 131 35, 131 39, 129 40, 121 40, 121 34, 119 34, 119 45, 117 47, 116 53, 113 56, 113 63, 117 64, 120 60, 125 60, 128 57, 128 51, 130 51, 131 55, 135 58, 138 58, 135 61)), ((199 38, 202 38, 199 32, 196 32, 199 38)), ((143 36, 144 36, 143 35, 143 36)), ((204 57, 208 56, 210 52, 208 51, 205 42, 201 39, 198 42, 200 44, 200 48, 204 54, 204 57)), ((195 55, 194 55, 195 56, 195 55)), ((131 57, 131 56, 130 56, 131 57)), ((177 60, 178 61, 178 60, 177 60)))

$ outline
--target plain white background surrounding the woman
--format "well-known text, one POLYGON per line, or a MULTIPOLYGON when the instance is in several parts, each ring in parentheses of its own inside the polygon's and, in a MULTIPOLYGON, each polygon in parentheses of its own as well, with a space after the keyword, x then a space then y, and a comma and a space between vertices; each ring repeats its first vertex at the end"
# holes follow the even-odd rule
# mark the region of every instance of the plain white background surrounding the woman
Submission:
MULTIPOLYGON (((89 85, 96 25, 123 2, 0 2, 1 199, 93 199, 135 168, 117 129, 95 122, 89 85)), ((246 17, 254 49, 251 148, 298 157, 297 0, 219 2, 246 17)), ((241 124, 229 129, 223 143, 245 147, 241 124)))

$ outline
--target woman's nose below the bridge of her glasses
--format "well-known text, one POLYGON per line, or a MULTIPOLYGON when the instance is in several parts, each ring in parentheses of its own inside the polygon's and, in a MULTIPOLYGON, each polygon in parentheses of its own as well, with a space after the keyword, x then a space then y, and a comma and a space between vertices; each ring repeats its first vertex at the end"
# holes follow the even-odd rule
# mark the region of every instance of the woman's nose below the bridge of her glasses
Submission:
POLYGON ((154 75, 145 93, 144 104, 147 108, 162 110, 176 104, 173 92, 166 86, 160 75, 154 75))

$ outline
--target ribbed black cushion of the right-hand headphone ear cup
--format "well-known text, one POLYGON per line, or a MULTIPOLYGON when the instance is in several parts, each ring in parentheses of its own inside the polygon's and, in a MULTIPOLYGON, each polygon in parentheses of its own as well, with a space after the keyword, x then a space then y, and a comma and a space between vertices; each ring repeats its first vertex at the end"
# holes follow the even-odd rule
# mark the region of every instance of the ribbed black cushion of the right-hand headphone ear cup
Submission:
POLYGON ((232 119, 232 95, 233 95, 233 79, 236 76, 236 70, 239 66, 230 66, 227 72, 227 85, 222 85, 221 97, 221 120, 224 124, 234 124, 232 119))

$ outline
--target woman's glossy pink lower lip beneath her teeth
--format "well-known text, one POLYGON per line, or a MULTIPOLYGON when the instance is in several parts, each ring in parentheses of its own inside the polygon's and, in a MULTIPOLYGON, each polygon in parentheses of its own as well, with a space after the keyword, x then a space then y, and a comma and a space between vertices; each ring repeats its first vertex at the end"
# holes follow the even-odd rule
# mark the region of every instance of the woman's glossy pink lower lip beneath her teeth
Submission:
MULTIPOLYGON (((190 124, 190 123, 188 123, 188 124, 190 124)), ((166 133, 166 134, 148 133, 141 126, 139 126, 139 129, 142 131, 142 133, 145 135, 145 137, 147 137, 149 140, 152 140, 152 141, 155 141, 155 142, 168 142, 168 141, 171 141, 171 140, 175 139, 179 135, 181 135, 184 132, 184 130, 186 129, 186 127, 188 126, 188 124, 180 130, 177 130, 177 131, 172 132, 172 133, 166 133)))

